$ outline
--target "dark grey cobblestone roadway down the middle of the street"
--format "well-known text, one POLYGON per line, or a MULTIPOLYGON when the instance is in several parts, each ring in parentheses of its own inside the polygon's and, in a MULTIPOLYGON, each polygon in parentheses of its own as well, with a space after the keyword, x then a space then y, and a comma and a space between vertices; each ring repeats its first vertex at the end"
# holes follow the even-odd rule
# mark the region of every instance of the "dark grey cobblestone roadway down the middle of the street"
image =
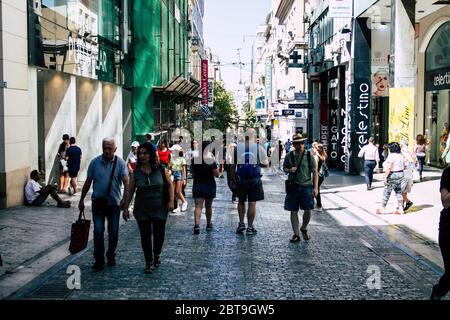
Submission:
MULTIPOLYGON (((263 180, 265 200, 257 205, 256 235, 235 233, 236 204, 231 203, 226 179, 218 179, 214 230, 206 232, 203 215, 201 234, 192 234, 193 200, 189 197, 188 211, 169 217, 162 265, 153 274, 143 272, 139 231, 131 220, 120 230, 117 266, 90 272, 91 244, 83 254, 62 261, 10 298, 428 299, 439 278, 436 270, 369 226, 346 226, 326 211, 314 212, 308 228, 311 240, 290 243, 283 177, 264 176, 263 180), (81 290, 67 289, 70 264, 81 268, 81 290), (381 288, 369 288, 373 273, 368 270, 377 269, 381 288)), ((187 191, 190 196, 191 185, 187 191)))

